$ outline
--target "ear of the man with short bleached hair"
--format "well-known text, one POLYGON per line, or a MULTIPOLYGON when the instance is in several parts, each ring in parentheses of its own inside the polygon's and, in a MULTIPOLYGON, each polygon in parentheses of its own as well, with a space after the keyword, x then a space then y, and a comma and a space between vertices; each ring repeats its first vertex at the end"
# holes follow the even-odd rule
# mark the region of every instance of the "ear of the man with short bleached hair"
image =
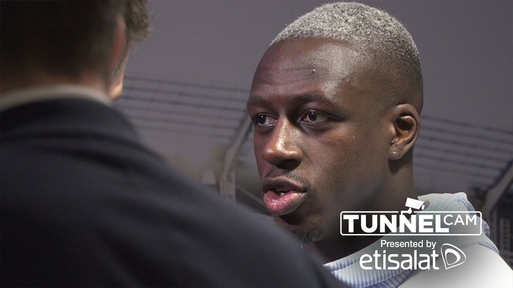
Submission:
POLYGON ((390 143, 388 159, 398 160, 417 141, 420 129, 420 116, 411 104, 400 104, 392 109, 394 136, 390 143))

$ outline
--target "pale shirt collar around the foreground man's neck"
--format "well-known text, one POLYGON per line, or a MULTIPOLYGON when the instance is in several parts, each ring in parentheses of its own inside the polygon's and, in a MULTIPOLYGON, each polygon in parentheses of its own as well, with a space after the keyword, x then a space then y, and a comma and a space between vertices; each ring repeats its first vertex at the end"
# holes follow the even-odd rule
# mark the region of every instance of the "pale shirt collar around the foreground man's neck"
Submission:
POLYGON ((3 93, 2 97, 0 97, 0 112, 31 102, 62 98, 85 98, 102 102, 105 105, 112 104, 109 96, 92 88, 79 85, 55 85, 16 89, 3 93))

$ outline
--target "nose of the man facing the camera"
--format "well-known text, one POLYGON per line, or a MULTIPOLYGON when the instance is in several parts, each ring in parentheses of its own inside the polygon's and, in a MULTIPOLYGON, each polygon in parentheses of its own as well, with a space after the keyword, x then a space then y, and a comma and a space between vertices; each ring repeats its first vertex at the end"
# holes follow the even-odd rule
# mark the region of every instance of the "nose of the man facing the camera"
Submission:
POLYGON ((262 158, 278 168, 292 170, 297 167, 303 159, 299 133, 289 121, 279 120, 264 146, 262 158))

